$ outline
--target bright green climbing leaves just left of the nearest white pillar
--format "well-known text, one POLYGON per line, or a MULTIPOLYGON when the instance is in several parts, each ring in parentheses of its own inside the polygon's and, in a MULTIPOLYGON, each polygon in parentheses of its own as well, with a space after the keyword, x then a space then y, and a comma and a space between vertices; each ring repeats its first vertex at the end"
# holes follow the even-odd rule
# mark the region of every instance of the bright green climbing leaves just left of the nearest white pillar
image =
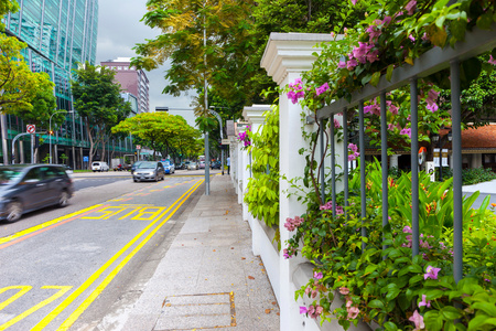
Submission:
POLYGON ((279 106, 266 111, 260 132, 249 132, 251 173, 245 202, 248 211, 267 226, 279 224, 279 106))

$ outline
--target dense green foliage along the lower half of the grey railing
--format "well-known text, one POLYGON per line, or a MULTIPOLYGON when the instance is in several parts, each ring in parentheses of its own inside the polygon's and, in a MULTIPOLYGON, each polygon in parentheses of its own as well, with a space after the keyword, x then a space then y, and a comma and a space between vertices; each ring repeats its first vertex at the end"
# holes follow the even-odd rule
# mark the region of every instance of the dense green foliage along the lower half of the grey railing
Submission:
MULTIPOLYGON (((464 275, 453 278, 451 181, 431 183, 420 174, 420 255, 411 250, 411 174, 388 180, 389 225, 381 226, 381 170, 367 167, 367 216, 360 215, 359 172, 351 180, 352 197, 346 216, 309 205, 304 222, 288 244, 288 252, 301 254, 315 264, 322 278, 311 279, 296 296, 319 293, 312 305, 323 308, 321 318, 337 318, 345 329, 358 319, 376 321, 386 330, 410 330, 409 318, 421 314, 425 330, 490 330, 496 319, 496 217, 484 210, 471 210, 474 196, 464 201, 464 275), (410 190, 409 190, 410 185, 410 190), (366 237, 360 228, 365 227, 366 237), (365 244, 365 250, 362 245, 365 244), (387 248, 384 249, 384 245, 387 248), (438 277, 425 277, 430 267, 438 277), (435 278, 435 279, 434 279, 435 278), (345 303, 330 310, 334 291, 345 303), (419 305, 421 301, 429 307, 419 305), (487 305, 486 305, 487 302, 487 305), (353 314, 356 309, 356 314, 353 314), (482 327, 485 325, 485 327, 482 327), (455 330, 455 329, 453 329, 455 330)), ((475 196, 476 197, 476 196, 475 196)), ((291 255, 291 254, 290 254, 291 255)))

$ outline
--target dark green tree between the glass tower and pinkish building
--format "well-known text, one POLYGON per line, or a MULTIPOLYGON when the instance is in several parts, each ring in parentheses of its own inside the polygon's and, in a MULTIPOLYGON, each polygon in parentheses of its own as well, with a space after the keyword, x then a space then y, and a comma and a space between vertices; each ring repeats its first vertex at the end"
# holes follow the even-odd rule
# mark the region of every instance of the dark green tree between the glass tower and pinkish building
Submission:
POLYGON ((131 113, 131 105, 120 96, 120 85, 114 83, 115 74, 110 68, 86 62, 75 71, 75 79, 71 82, 74 108, 83 118, 89 140, 89 163, 99 143, 105 160, 110 128, 131 113))

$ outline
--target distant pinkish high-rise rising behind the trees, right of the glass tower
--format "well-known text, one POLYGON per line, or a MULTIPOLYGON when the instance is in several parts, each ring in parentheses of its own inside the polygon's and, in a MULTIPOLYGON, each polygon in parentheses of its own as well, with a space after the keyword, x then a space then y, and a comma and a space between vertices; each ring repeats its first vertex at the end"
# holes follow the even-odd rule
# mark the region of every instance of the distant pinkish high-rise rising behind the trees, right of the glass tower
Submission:
POLYGON ((100 65, 116 71, 116 82, 122 90, 138 98, 139 113, 150 111, 150 83, 144 71, 131 66, 130 57, 117 57, 101 62, 100 65))

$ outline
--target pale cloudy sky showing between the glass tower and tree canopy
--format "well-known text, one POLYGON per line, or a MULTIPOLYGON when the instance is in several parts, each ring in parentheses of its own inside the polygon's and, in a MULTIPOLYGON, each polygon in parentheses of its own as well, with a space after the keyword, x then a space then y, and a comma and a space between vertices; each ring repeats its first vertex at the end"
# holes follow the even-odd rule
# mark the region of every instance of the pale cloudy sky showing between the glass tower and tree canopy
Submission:
MULTIPOLYGON (((117 57, 133 57, 137 54, 132 47, 153 39, 160 33, 144 25, 140 20, 147 13, 147 0, 99 0, 98 40, 96 64, 117 57)), ((145 72, 150 81, 150 111, 157 106, 169 108, 191 108, 191 94, 181 97, 162 94, 166 85, 166 65, 145 72)), ((183 116, 190 125, 194 125, 193 111, 170 111, 183 116)))

